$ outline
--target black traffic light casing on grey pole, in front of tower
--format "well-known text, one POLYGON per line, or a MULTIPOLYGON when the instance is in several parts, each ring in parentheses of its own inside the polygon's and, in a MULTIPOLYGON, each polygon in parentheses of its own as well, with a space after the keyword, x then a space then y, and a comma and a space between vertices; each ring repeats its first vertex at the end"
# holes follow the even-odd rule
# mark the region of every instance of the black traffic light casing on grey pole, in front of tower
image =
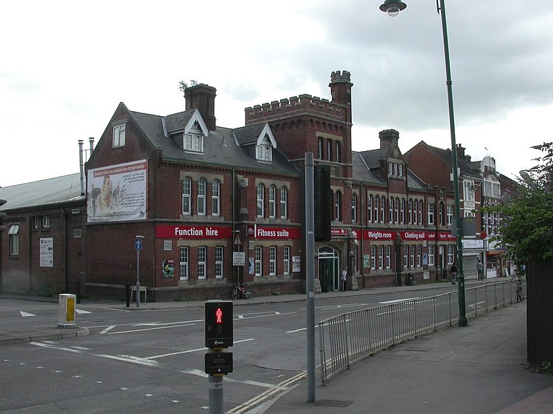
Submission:
POLYGON ((329 166, 315 166, 313 170, 313 201, 315 204, 315 242, 328 242, 330 241, 330 221, 332 221, 329 166))

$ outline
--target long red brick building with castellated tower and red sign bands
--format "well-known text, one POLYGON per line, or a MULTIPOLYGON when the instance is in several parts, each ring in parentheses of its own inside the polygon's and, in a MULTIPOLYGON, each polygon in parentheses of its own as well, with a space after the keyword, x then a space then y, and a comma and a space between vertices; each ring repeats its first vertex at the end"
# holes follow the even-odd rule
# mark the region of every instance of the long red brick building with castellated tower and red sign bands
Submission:
MULTIPOLYGON (((204 84, 186 88, 185 110, 172 115, 120 103, 82 171, 86 191, 71 201, 79 213, 52 213, 66 220, 65 242, 54 241, 64 258, 56 253, 53 269, 65 276, 53 293, 79 282, 88 297, 122 299, 137 273, 147 300, 229 297, 243 281, 258 295, 303 292, 306 152, 331 171, 332 238, 315 246, 323 292, 339 288, 345 268, 353 289, 444 277, 456 255, 451 152, 422 142, 402 155, 396 130, 379 133, 379 148, 353 151, 350 73, 332 72, 329 87, 330 100, 299 95, 246 108, 241 128, 216 124, 216 90, 204 84), (70 242, 75 230, 82 237, 70 242), (137 235, 144 237, 139 272, 137 235)), ((469 160, 460 165, 468 192, 462 211, 474 214, 482 178, 469 160)), ((46 215, 46 206, 25 217, 12 206, 8 219, 19 232, 33 215, 46 215)), ((2 289, 26 272, 40 283, 44 269, 16 272, 18 263, 38 260, 35 242, 19 233, 30 255, 10 255, 7 233, 2 289)))

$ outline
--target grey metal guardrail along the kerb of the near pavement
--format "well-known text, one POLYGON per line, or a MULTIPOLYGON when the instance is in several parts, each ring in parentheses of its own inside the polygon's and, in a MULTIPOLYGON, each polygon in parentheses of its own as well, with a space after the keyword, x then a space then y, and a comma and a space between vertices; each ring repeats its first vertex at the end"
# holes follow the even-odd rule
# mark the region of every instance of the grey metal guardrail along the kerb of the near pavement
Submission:
MULTIPOLYGON (((523 291, 526 291, 523 280, 523 291)), ((479 314, 516 301, 516 281, 465 290, 465 314, 479 314)), ((321 382, 350 364, 408 339, 438 331, 458 321, 457 290, 397 304, 347 312, 319 322, 321 382)))

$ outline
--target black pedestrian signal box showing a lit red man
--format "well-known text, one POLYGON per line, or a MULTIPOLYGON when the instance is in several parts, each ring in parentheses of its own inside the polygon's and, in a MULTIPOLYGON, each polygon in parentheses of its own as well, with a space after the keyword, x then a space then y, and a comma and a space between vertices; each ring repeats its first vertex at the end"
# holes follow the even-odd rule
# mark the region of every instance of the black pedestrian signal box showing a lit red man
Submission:
POLYGON ((232 301, 208 300, 205 302, 205 346, 228 348, 233 341, 232 301))

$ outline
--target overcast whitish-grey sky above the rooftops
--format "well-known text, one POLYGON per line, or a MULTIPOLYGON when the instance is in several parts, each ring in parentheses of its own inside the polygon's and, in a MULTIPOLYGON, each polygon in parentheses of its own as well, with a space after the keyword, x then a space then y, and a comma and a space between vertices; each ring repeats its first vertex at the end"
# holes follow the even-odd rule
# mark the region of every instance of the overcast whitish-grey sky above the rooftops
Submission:
MULTIPOLYGON (((308 94, 330 72, 354 84, 353 149, 379 130, 451 148, 435 0, 391 18, 377 0, 9 1, 0 17, 0 186, 79 171, 77 141, 99 139, 119 102, 169 115, 179 81, 217 89, 217 124, 308 94)), ((508 177, 552 141, 551 1, 448 0, 457 144, 508 177)))

